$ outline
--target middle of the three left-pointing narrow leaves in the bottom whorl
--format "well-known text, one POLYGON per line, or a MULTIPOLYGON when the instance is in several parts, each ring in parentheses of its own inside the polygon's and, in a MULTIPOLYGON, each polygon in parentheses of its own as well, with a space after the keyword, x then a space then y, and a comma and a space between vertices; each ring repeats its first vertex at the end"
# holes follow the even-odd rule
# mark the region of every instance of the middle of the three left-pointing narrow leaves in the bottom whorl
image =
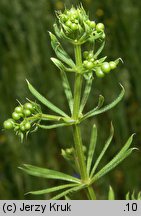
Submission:
POLYGON ((78 184, 59 185, 59 186, 48 188, 48 189, 43 189, 43 190, 38 190, 38 191, 30 191, 30 192, 28 192, 26 194, 34 194, 34 195, 49 194, 49 193, 52 193, 52 192, 56 192, 58 190, 65 189, 65 188, 74 187, 76 185, 78 185, 78 184))

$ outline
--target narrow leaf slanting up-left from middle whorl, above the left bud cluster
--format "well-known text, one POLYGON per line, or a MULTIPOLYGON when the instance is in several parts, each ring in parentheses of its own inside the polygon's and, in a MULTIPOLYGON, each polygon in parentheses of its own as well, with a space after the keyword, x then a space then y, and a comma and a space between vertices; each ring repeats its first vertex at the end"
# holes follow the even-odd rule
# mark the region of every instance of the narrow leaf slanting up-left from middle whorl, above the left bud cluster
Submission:
POLYGON ((30 83, 28 80, 27 84, 28 84, 28 88, 30 90, 30 92, 45 106, 47 106, 49 109, 53 110, 54 112, 68 117, 68 115, 66 115, 66 113, 64 113, 62 110, 60 110, 58 107, 56 107, 53 103, 51 103, 49 100, 47 100, 44 96, 42 96, 30 83))

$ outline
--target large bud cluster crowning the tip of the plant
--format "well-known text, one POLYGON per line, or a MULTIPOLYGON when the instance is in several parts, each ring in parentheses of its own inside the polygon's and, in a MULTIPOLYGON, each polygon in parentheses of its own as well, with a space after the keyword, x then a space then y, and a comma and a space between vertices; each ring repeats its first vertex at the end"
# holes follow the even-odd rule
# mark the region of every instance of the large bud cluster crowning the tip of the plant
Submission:
POLYGON ((83 7, 72 7, 63 13, 59 11, 57 17, 60 28, 54 25, 56 34, 74 44, 83 44, 95 38, 105 38, 103 23, 96 24, 95 21, 90 21, 83 7))

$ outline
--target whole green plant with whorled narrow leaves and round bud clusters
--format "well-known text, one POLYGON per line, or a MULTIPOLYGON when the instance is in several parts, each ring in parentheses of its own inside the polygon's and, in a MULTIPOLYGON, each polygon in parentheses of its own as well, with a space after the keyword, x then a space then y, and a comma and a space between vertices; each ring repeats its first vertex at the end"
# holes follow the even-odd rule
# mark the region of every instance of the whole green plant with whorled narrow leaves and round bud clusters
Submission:
MULTIPOLYGON (((121 59, 118 58, 114 61, 107 62, 105 61, 107 57, 100 57, 105 45, 104 25, 90 21, 82 6, 77 8, 72 7, 70 10, 66 9, 63 13, 59 11, 57 12, 57 18, 58 24, 54 24, 56 35, 51 32, 49 33, 52 48, 57 56, 57 58, 51 58, 51 60, 60 69, 62 85, 68 101, 70 115, 47 100, 27 81, 30 92, 40 103, 53 111, 55 115, 44 114, 41 106, 37 102, 28 100, 24 105, 19 102, 19 105, 12 113, 12 119, 10 118, 4 122, 4 128, 13 129, 20 136, 21 141, 23 141, 24 136, 27 136, 30 132, 35 132, 38 128, 72 127, 74 146, 71 146, 69 149, 63 149, 62 156, 72 164, 75 171, 80 175, 80 178, 28 164, 24 164, 20 169, 33 176, 67 182, 67 184, 60 184, 49 189, 29 193, 55 193, 56 195, 52 199, 60 199, 66 196, 68 197, 71 193, 85 189, 88 199, 94 200, 96 199, 96 195, 92 187, 93 183, 115 168, 135 149, 130 148, 133 139, 132 135, 119 153, 104 167, 97 170, 101 159, 112 141, 114 134, 113 125, 111 124, 110 136, 106 140, 94 164, 94 153, 97 143, 97 127, 95 124, 92 127, 89 149, 87 150, 82 143, 81 123, 90 117, 112 109, 124 96, 124 88, 121 86, 121 92, 113 102, 103 106, 104 97, 100 95, 98 105, 84 113, 94 78, 103 78, 109 74, 117 67, 121 59), (73 46, 75 60, 63 49, 56 36, 61 40, 66 40, 73 46), (85 50, 85 44, 89 44, 89 50, 85 50), (75 76, 73 92, 67 73, 75 76), (83 84, 85 85, 84 90, 82 88, 83 84), (42 122, 51 122, 52 124, 44 125, 42 122)), ((109 197, 112 197, 112 195, 109 195, 109 197)))

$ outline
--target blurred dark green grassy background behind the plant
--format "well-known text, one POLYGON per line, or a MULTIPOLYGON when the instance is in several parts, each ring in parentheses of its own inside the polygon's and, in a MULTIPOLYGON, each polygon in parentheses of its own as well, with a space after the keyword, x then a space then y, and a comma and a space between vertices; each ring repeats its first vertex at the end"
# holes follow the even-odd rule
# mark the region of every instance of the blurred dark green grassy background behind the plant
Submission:
MULTIPOLYGON (((98 127, 98 147, 102 149, 113 121, 115 136, 106 163, 125 143, 131 133, 136 133, 133 145, 139 148, 110 175, 102 178, 94 188, 98 199, 106 199, 109 184, 117 199, 124 199, 127 191, 141 190, 141 2, 135 0, 85 0, 81 1, 90 17, 106 26, 106 46, 103 55, 109 60, 121 57, 124 64, 93 84, 86 110, 96 104, 99 94, 108 103, 120 91, 119 82, 126 89, 124 100, 113 110, 90 119, 82 125, 84 143, 88 145, 91 125, 98 127)), ((25 79, 56 105, 67 110, 59 71, 50 61, 55 56, 51 49, 48 31, 53 31, 55 10, 77 5, 77 1, 61 0, 1 0, 0 1, 0 199, 48 199, 47 196, 24 196, 58 184, 23 174, 22 163, 73 173, 60 155, 60 149, 72 145, 71 130, 38 130, 21 144, 13 133, 2 130, 3 121, 10 117, 17 105, 16 99, 25 103, 33 99, 25 79), (64 135, 65 130, 65 135, 64 135)), ((67 47, 69 53, 72 48, 67 47)), ((43 107, 43 110, 48 112, 43 107)), ((79 194, 78 199, 85 199, 79 194)))

